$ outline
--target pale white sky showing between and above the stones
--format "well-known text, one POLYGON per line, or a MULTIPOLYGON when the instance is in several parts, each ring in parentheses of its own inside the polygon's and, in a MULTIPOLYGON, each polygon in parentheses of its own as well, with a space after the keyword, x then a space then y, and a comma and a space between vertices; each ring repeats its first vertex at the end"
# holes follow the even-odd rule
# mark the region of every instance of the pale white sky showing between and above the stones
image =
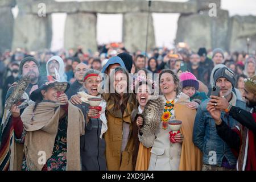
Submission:
MULTIPOLYGON (((70 0, 55 0, 70 1, 70 0)), ((75 0, 73 0, 75 1, 75 0)), ((77 0, 88 1, 88 0, 77 0)), ((101 0, 94 0, 101 1, 101 0)), ((115 0, 113 0, 115 1, 115 0)), ((158 0, 162 1, 162 0, 158 0)), ((164 0, 172 2, 186 2, 187 0, 164 0)), ((46 7, 47 8, 47 7, 46 7)), ((229 16, 233 15, 255 15, 255 0, 221 0, 221 9, 228 10, 229 16)), ((46 9, 47 10, 47 9, 46 9)), ((18 10, 14 9, 14 16, 18 10)), ((161 14, 153 13, 153 23, 155 28, 156 46, 172 47, 177 31, 177 20, 180 14, 161 14)), ((67 14, 52 14, 52 51, 63 48, 64 45, 64 26, 67 14)), ((97 43, 104 44, 109 42, 122 41, 122 15, 121 14, 98 14, 97 15, 97 43), (106 28, 108 27, 108 28, 106 28)))

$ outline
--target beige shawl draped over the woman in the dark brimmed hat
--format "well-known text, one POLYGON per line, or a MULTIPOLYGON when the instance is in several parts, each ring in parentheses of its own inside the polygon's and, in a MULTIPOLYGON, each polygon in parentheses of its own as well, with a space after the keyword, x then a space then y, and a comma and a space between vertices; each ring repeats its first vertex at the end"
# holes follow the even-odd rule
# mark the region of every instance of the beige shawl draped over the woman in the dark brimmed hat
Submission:
MULTIPOLYGON (((33 121, 31 121, 33 109, 34 105, 28 106, 21 116, 24 129, 26 130, 24 154, 26 155, 28 168, 31 170, 42 170, 44 164, 38 163, 38 153, 44 151, 46 153, 46 159, 52 156, 59 120, 65 112, 55 103, 41 102, 36 107, 33 121)), ((69 102, 67 170, 81 170, 80 136, 84 134, 84 127, 85 121, 82 111, 69 102)))

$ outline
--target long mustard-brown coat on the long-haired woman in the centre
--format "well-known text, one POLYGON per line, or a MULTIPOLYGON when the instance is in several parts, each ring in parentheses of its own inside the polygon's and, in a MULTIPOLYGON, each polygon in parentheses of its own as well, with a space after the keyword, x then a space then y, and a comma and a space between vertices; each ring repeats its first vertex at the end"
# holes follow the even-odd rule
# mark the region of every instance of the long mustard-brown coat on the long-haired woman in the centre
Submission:
POLYGON ((131 121, 131 111, 135 107, 136 100, 131 94, 123 115, 121 110, 114 110, 114 102, 107 101, 106 118, 108 120, 108 130, 105 133, 106 140, 106 163, 110 171, 131 171, 133 170, 133 122, 131 121), (129 140, 125 151, 121 154, 123 122, 129 123, 129 140))

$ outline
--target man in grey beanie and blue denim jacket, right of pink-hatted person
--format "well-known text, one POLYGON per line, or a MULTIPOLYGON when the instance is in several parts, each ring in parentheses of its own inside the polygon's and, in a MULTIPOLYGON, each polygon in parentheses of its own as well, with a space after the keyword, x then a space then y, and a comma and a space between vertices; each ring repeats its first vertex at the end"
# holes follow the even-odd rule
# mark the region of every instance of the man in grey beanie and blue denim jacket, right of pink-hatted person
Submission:
MULTIPOLYGON (((236 80, 234 73, 228 68, 220 68, 214 74, 214 85, 220 88, 221 96, 226 98, 229 105, 246 109, 245 102, 238 100, 232 92, 236 80)), ((211 96, 213 98, 213 96, 211 96)), ((203 152, 203 171, 229 171, 236 169, 237 158, 229 145, 222 140, 216 131, 215 119, 207 110, 209 100, 202 102, 197 109, 193 127, 193 142, 203 152)), ((218 106, 218 102, 210 102, 218 106)), ((226 109, 226 108, 225 108, 226 109)), ((229 127, 237 125, 238 121, 225 111, 220 117, 229 127)))

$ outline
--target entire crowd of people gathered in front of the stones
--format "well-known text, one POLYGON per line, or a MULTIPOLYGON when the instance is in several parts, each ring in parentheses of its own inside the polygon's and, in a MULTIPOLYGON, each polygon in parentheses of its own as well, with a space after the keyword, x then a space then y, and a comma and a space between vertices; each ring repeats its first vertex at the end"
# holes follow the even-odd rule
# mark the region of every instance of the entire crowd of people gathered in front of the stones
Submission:
POLYGON ((255 68, 220 48, 6 51, 0 170, 255 171, 255 68))

